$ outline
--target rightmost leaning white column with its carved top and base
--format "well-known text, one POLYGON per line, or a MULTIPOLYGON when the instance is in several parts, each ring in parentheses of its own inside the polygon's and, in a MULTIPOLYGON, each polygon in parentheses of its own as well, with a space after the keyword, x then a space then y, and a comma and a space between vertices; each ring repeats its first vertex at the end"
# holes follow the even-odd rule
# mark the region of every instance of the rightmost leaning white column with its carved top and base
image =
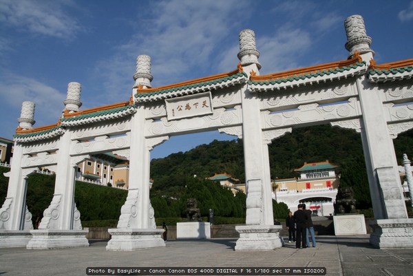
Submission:
MULTIPOLYGON (((371 38, 366 34, 363 18, 348 17, 344 23, 348 41, 346 49, 351 58, 359 52, 363 61, 370 63, 374 52, 371 38)), ((374 221, 370 243, 379 248, 413 247, 413 220, 407 217, 393 141, 383 110, 381 92, 366 76, 356 80, 361 112, 361 141, 372 197, 374 221)))

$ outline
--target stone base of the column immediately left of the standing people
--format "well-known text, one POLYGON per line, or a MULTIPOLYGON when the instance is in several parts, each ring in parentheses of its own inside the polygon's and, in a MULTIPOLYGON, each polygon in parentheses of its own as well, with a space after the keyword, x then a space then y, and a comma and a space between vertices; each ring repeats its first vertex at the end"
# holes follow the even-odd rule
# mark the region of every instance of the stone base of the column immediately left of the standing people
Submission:
POLYGON ((235 245, 235 251, 266 251, 284 246, 284 240, 279 236, 281 225, 240 225, 235 230, 240 238, 235 245))

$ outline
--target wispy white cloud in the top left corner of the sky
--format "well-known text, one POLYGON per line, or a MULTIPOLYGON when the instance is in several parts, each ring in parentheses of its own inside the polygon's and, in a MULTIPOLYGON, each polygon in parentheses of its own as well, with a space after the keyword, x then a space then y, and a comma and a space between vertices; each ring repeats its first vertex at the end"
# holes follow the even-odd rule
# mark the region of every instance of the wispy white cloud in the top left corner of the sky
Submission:
POLYGON ((83 28, 69 17, 63 8, 72 6, 70 1, 0 1, 0 23, 32 34, 72 39, 83 28))

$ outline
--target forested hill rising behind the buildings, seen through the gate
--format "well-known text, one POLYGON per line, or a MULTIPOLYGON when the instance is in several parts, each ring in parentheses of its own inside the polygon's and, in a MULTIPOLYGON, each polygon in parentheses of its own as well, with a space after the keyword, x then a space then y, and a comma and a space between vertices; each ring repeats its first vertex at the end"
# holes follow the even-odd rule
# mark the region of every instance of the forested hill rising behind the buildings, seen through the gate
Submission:
MULTIPOLYGON (((413 158, 413 131, 399 134, 393 141, 399 164, 403 153, 413 158)), ((294 178, 298 176, 294 169, 304 162, 329 160, 339 166, 336 172, 343 185, 353 188, 357 208, 371 206, 361 135, 355 131, 329 125, 293 129, 291 134, 273 140, 268 152, 271 178, 294 178)), ((189 176, 208 178, 224 172, 245 182, 242 140, 214 140, 209 145, 151 161, 153 190, 169 197, 182 193, 189 176)))

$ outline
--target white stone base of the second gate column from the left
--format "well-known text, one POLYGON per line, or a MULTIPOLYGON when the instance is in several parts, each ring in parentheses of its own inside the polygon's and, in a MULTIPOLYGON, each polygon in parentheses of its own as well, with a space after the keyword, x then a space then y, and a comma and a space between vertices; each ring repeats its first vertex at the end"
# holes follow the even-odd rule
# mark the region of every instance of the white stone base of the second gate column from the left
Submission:
POLYGON ((59 230, 39 229, 32 230, 32 240, 28 243, 28 249, 53 249, 78 246, 89 246, 86 234, 87 230, 59 230))

